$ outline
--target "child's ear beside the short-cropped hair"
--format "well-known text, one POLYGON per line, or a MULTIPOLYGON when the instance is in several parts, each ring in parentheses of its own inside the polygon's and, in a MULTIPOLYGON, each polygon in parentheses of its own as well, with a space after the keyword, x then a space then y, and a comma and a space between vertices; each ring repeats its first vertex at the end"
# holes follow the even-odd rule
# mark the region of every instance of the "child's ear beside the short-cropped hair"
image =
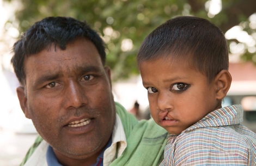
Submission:
POLYGON ((215 77, 216 99, 222 100, 228 93, 232 77, 228 70, 220 71, 215 77))

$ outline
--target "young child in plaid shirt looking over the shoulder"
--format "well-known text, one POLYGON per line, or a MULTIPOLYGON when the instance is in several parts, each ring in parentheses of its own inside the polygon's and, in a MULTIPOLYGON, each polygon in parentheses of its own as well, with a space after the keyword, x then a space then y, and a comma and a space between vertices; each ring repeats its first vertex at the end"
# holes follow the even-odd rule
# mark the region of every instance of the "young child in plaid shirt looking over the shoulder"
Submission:
POLYGON ((221 29, 175 17, 144 40, 137 56, 155 122, 169 132, 161 165, 255 165, 256 134, 240 105, 221 106, 231 76, 221 29))

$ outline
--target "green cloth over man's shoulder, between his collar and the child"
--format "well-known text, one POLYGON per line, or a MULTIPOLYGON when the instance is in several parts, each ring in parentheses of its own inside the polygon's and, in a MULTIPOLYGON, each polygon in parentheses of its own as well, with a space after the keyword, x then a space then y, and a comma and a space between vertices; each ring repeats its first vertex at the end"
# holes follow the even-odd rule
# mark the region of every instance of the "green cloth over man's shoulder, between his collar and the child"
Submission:
POLYGON ((153 119, 137 121, 130 126, 125 151, 111 165, 159 165, 167 135, 167 131, 153 119))

